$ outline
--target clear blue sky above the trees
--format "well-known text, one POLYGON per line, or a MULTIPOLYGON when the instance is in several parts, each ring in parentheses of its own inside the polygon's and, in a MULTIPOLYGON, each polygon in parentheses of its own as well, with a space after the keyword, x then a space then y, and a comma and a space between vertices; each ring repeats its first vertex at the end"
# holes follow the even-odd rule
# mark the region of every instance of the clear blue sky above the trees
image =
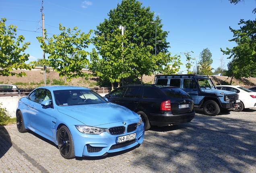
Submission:
MULTIPOLYGON (((122 0, 47 0, 43 1, 45 29, 48 36, 59 34, 59 24, 88 33, 95 30, 107 13, 117 7, 122 0)), ((239 29, 240 19, 255 20, 252 10, 256 7, 255 0, 245 0, 244 3, 231 4, 228 0, 140 0, 142 6, 148 7, 155 16, 162 19, 163 30, 169 31, 167 42, 170 42, 169 52, 182 56, 181 70, 186 73, 186 57, 183 52, 193 51, 192 57, 197 58, 204 48, 212 53, 213 68, 220 66, 220 58, 224 50, 236 46, 233 29, 239 29)), ((17 35, 25 36, 25 42, 31 42, 26 53, 30 60, 42 58, 42 49, 36 39, 42 36, 41 30, 41 0, 1 0, 0 18, 6 18, 6 25, 18 26, 17 35), (38 22, 39 21, 39 22, 38 22)), ((128 29, 128 26, 127 26, 128 29)), ((93 36, 93 34, 91 35, 93 36)), ((91 51, 89 46, 87 51, 91 51)), ((225 67, 229 62, 224 56, 225 67)), ((226 67, 227 68, 227 67, 226 67)))

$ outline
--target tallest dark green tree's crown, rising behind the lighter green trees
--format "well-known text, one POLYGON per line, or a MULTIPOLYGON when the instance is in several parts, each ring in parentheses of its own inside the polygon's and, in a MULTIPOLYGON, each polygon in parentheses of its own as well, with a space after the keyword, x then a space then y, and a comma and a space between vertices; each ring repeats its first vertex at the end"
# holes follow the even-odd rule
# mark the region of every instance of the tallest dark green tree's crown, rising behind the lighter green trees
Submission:
MULTIPOLYGON (((122 0, 121 4, 117 5, 117 8, 110 10, 108 13, 109 19, 105 19, 100 23, 95 30, 95 35, 101 36, 107 33, 112 33, 118 26, 126 26, 129 32, 128 42, 133 43, 136 46, 140 46, 141 43, 146 47, 151 45, 154 49, 151 50, 151 54, 155 54, 155 22, 157 24, 157 40, 161 40, 161 44, 157 44, 158 52, 165 51, 169 47, 169 42, 166 42, 168 32, 162 30, 161 19, 159 16, 154 21, 154 12, 150 11, 150 8, 141 7, 142 3, 136 0, 122 0)), ((107 38, 105 38, 107 39, 107 38)), ((94 37, 95 42, 100 42, 97 37, 94 37)), ((96 46, 96 48, 98 48, 96 46)))

